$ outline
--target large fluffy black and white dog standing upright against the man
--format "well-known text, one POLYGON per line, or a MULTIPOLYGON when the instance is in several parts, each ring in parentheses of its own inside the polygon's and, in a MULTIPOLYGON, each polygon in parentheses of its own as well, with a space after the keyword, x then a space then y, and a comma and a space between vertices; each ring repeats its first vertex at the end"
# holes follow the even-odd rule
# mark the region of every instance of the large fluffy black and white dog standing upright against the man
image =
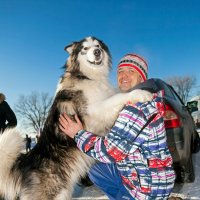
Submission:
POLYGON ((146 91, 115 94, 108 81, 111 57, 107 46, 87 37, 67 46, 65 72, 36 146, 21 153, 23 139, 16 129, 0 137, 0 195, 8 200, 70 200, 73 187, 84 177, 92 158, 58 128, 59 114, 77 113, 84 128, 105 135, 127 101, 147 101, 146 91))

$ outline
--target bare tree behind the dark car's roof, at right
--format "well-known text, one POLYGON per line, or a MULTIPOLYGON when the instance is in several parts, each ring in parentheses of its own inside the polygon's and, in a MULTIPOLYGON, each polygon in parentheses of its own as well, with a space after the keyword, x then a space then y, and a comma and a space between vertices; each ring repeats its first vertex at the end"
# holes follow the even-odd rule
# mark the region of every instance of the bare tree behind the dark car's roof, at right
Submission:
POLYGON ((196 78, 193 76, 174 76, 167 78, 166 82, 173 86, 183 102, 186 103, 193 86, 196 84, 196 78))

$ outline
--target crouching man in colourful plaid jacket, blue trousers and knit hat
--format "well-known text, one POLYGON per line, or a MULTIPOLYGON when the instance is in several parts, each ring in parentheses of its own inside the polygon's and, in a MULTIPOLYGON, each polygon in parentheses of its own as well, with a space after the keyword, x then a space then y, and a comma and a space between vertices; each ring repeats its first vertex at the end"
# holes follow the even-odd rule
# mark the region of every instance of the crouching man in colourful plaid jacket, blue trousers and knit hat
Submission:
MULTIPOLYGON (((127 92, 147 79, 147 63, 136 54, 125 55, 118 65, 118 86, 127 92)), ((78 148, 99 160, 90 179, 111 200, 167 199, 175 173, 166 143, 162 92, 150 102, 127 103, 105 137, 83 130, 75 116, 60 117, 60 129, 74 138, 78 148)))

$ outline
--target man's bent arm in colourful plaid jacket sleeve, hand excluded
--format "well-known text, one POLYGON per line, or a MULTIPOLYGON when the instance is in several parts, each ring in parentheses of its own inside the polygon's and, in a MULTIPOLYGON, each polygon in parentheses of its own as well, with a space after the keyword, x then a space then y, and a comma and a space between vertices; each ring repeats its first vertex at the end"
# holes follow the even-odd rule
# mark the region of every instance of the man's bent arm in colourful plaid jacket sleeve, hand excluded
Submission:
POLYGON ((75 135, 78 148, 101 162, 117 162, 134 152, 145 141, 143 131, 146 118, 141 111, 126 106, 117 118, 111 131, 105 137, 99 137, 91 132, 81 130, 75 135))

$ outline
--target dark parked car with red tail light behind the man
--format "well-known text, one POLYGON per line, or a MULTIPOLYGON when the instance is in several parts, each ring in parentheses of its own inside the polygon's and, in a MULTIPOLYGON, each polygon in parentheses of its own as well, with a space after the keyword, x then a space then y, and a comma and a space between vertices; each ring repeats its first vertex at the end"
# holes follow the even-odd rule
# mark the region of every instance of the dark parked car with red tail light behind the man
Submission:
POLYGON ((176 182, 194 182, 192 153, 197 132, 187 106, 184 105, 173 87, 160 79, 149 79, 136 88, 150 92, 164 90, 166 107, 164 122, 167 143, 173 157, 176 182))

